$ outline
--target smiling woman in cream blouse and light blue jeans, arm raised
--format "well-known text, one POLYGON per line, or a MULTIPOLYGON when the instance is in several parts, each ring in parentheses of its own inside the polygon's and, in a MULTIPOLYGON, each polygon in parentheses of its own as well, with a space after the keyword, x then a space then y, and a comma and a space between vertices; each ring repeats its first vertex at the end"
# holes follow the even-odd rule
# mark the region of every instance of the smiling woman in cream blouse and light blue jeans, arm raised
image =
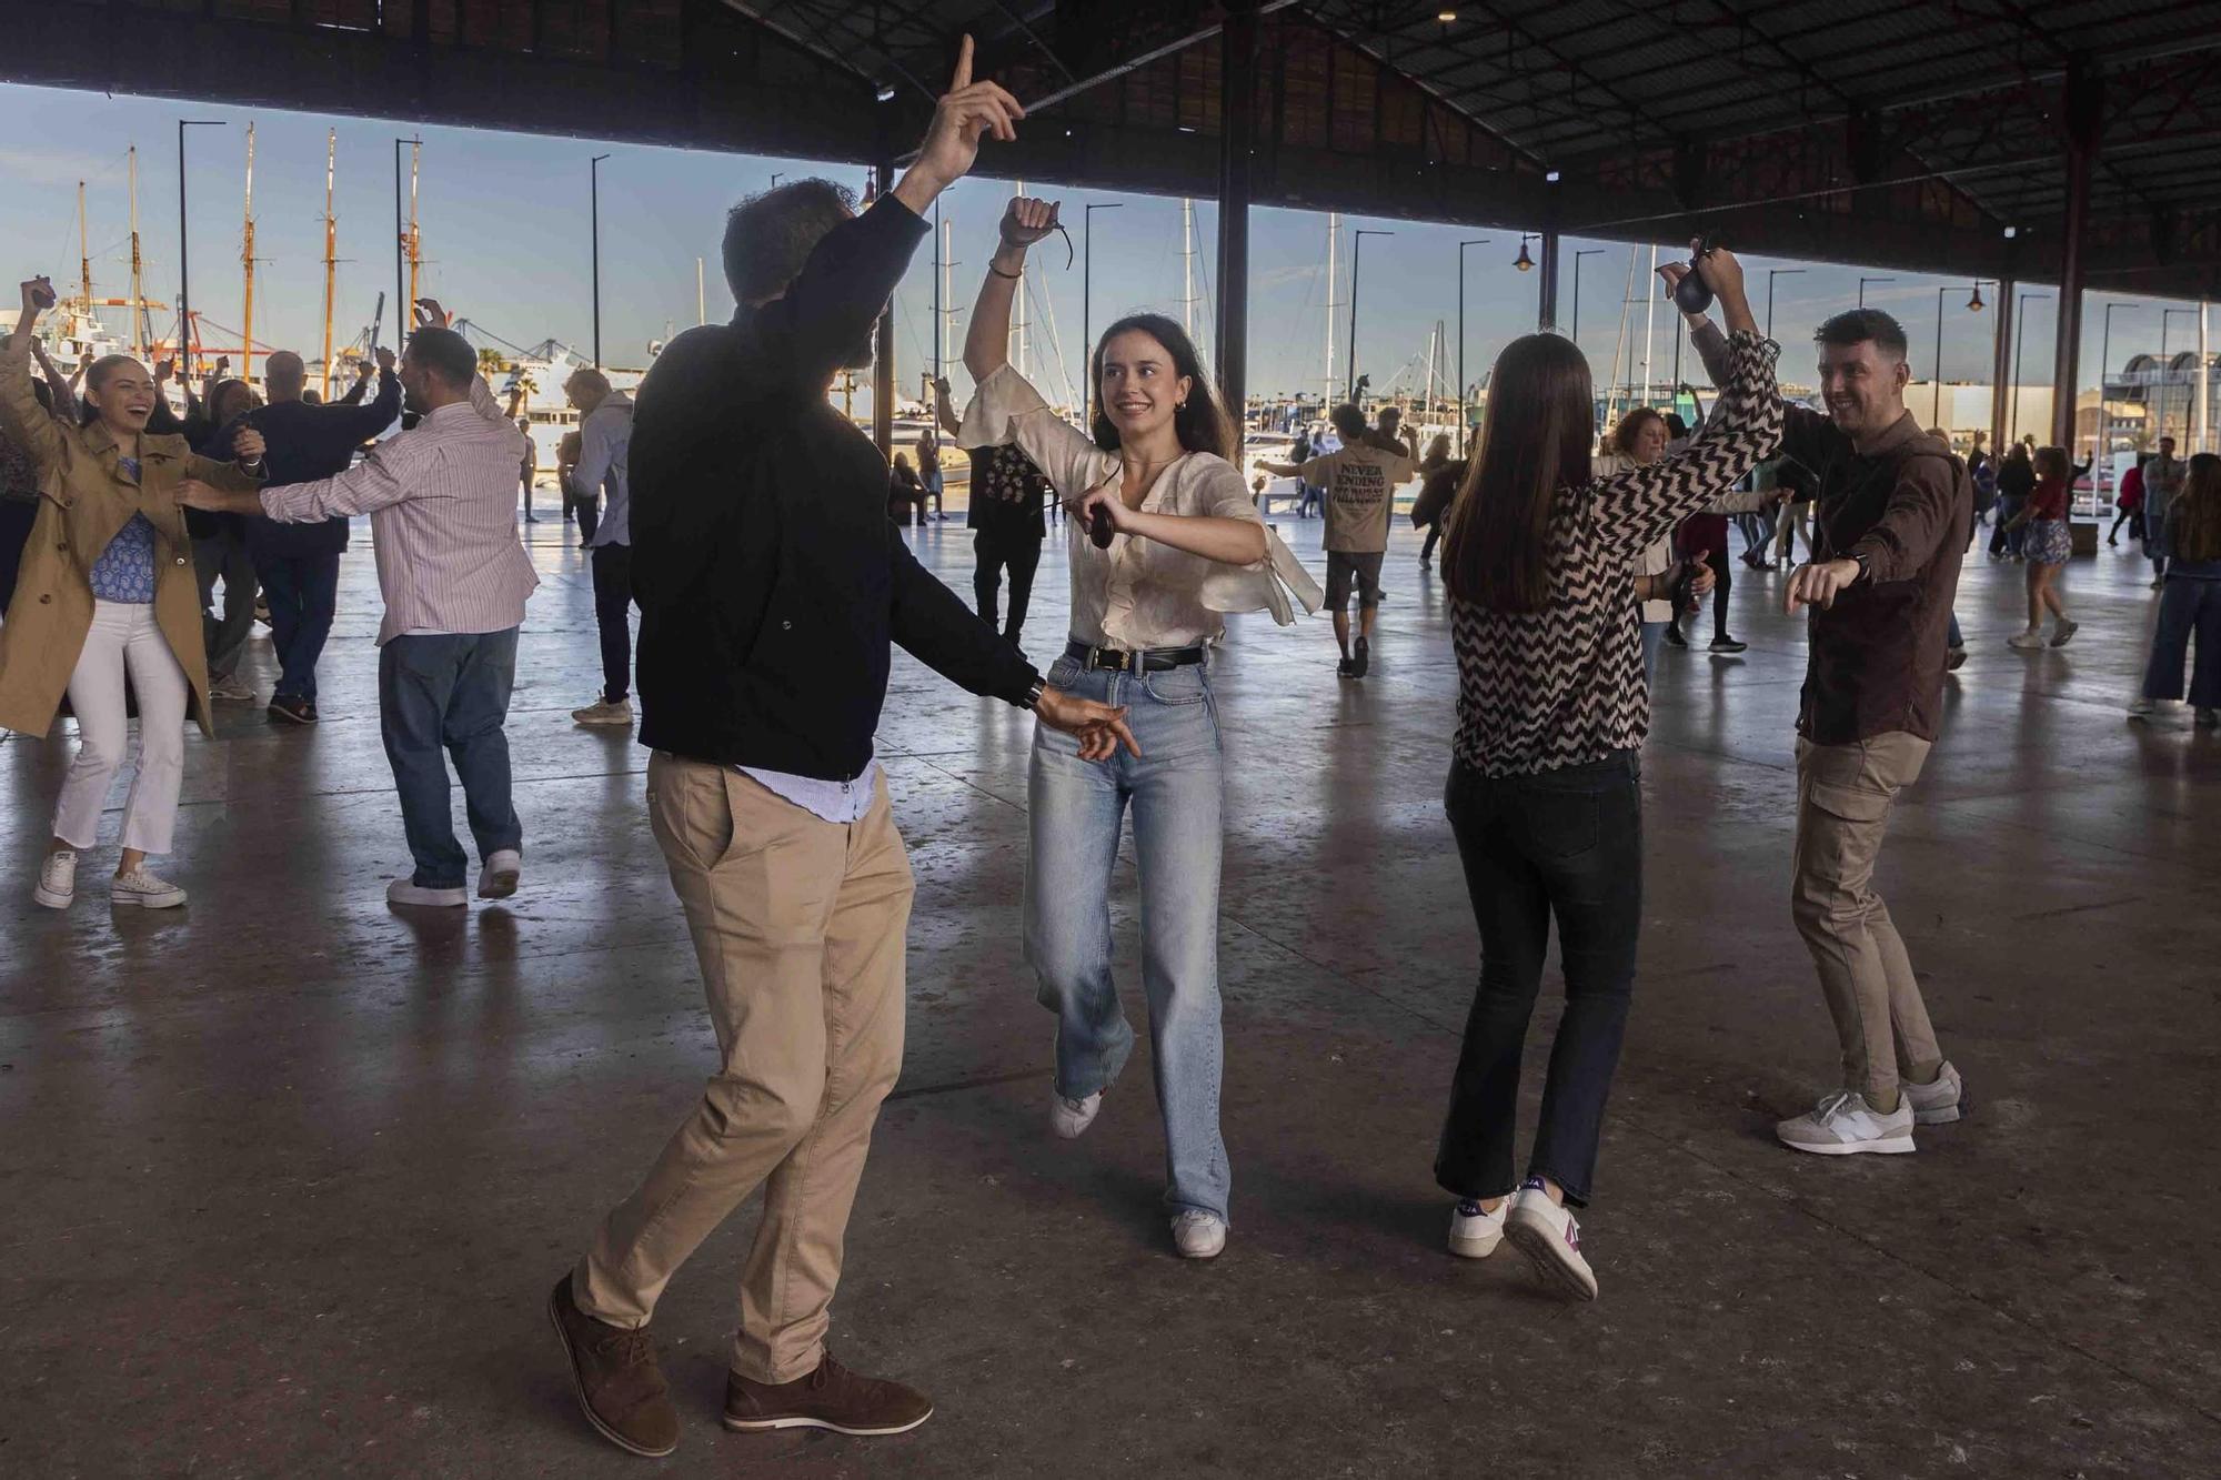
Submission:
POLYGON ((1110 982, 1110 869, 1133 807, 1142 873, 1142 987, 1164 1116, 1173 1242, 1186 1258, 1226 1247, 1233 1184, 1219 1136, 1219 716, 1208 644, 1226 611, 1293 622, 1319 589, 1257 518, 1228 462, 1235 427, 1179 324, 1124 318, 1095 349, 1093 440, 1059 418, 1004 358, 1026 247, 1057 229, 1055 204, 1013 200, 964 342, 979 382, 962 447, 1015 442, 1071 509, 1071 644, 1048 682, 1122 704, 1139 756, 1082 760, 1035 727, 1026 782, 1026 958, 1057 1013, 1051 1124, 1075 1138, 1133 1051, 1110 982), (1091 524, 1106 520, 1108 547, 1091 524))

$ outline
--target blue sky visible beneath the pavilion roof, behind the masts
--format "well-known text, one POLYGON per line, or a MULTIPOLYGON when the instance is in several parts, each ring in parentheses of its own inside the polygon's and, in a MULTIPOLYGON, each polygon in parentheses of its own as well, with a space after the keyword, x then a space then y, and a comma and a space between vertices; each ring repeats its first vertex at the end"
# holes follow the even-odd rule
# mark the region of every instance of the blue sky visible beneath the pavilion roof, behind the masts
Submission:
MULTIPOLYGON (((826 173, 862 187, 857 167, 824 167, 804 160, 724 156, 577 138, 486 133, 469 129, 418 129, 389 120, 324 118, 284 111, 244 111, 209 104, 178 104, 147 98, 111 98, 53 89, 0 87, 0 182, 9 211, 0 213, 0 249, 7 271, 18 278, 47 271, 58 284, 78 276, 76 182, 87 182, 93 282, 100 296, 122 296, 129 284, 129 222, 124 151, 140 147, 140 251, 147 293, 173 302, 178 287, 178 118, 213 118, 229 127, 193 129, 187 142, 191 198, 193 298, 204 320, 231 329, 240 322, 240 193, 244 184, 244 124, 255 129, 255 340, 302 349, 322 342, 324 256, 324 131, 340 131, 340 287, 338 338, 346 340, 369 322, 375 296, 393 284, 393 140, 424 140, 420 176, 420 224, 424 233, 424 291, 460 316, 517 344, 555 336, 586 349, 591 342, 586 160, 609 153, 602 164, 602 351, 611 364, 644 364, 646 344, 669 329, 695 322, 695 258, 706 262, 708 318, 722 320, 733 304, 717 273, 717 236, 726 207, 764 189, 775 171, 786 176, 826 173)), ((553 113, 551 113, 553 118, 553 113)), ((991 151, 988 149, 988 162, 991 151)), ((995 220, 1008 200, 1002 180, 966 180, 944 196, 953 222, 953 307, 966 309, 993 251, 995 220)), ((1039 191, 1064 200, 1064 218, 1079 240, 1082 207, 1115 202, 1095 216, 1093 324, 1117 313, 1155 309, 1179 316, 1182 251, 1179 200, 1153 196, 1106 196, 1039 191)), ((1217 213, 1197 204, 1202 278, 1213 278, 1217 213)), ((1346 229, 1386 229, 1364 244, 1359 287, 1359 369, 1375 387, 1415 367, 1428 333, 1444 320, 1455 336, 1457 242, 1490 238, 1468 253, 1466 376, 1479 380, 1501 344, 1535 324, 1535 276, 1517 273, 1517 231, 1475 231, 1421 222, 1346 218, 1346 229)), ((1619 344, 1621 298, 1628 287, 1626 244, 1575 242, 1566 251, 1601 247, 1581 267, 1581 347, 1599 382, 1612 378, 1619 344)), ((1637 293, 1644 291, 1648 249, 1637 256, 1637 293)), ((1315 389, 1324 378, 1326 349, 1326 218, 1304 211, 1259 209, 1250 227, 1250 389, 1315 389)), ((1752 276, 1752 298, 1763 313, 1766 269, 1781 269, 1775 291, 1775 331, 1788 347, 1783 373, 1810 380, 1803 331, 1828 313, 1857 302, 1859 269, 1743 253, 1752 276), (1792 271, 1801 269, 1801 271, 1792 271)), ((1064 247, 1055 238, 1037 249, 1048 309, 1062 331, 1066 376, 1077 378, 1082 273, 1064 269, 1064 247)), ((1870 269, 1868 276, 1875 276, 1870 269)), ((1868 284, 1866 302, 1906 322, 1915 373, 1926 378, 1934 356, 1937 287, 1946 293, 1946 380, 1990 378, 1992 309, 1968 313, 1966 280, 1915 273, 1879 273, 1890 282, 1868 284)), ((1215 293, 1217 284, 1210 282, 1215 293)), ((67 291, 67 289, 64 289, 67 291)), ((1572 313, 1572 258, 1566 260, 1561 322, 1572 313)), ((2030 289, 2043 291, 2043 289, 2030 289)), ((1348 367, 1348 238, 1341 249, 1341 280, 1333 298, 1344 304, 1335 329, 1337 378, 1348 367)), ((2099 329, 2106 296, 2092 293, 2086 309, 2083 384, 2094 384, 2099 329)), ((2161 304, 2114 313, 2112 360, 2161 347, 2161 304)), ((2023 364, 2030 382, 2050 373, 2054 300, 2032 300, 2026 311, 2023 364)), ((895 353, 906 389, 917 387, 917 367, 933 347, 931 247, 922 247, 897 293, 895 353)), ((1639 344, 1644 311, 1632 307, 1628 324, 1639 344)), ((115 320, 120 324, 120 318, 115 320)), ((386 309, 389 340, 395 322, 386 309)), ((2170 349, 2192 342, 2194 320, 2165 320, 2170 349)), ((1655 371, 1664 380, 1672 367, 1672 316, 1657 316, 1655 371)), ((951 340, 962 344, 964 318, 951 320, 951 340)), ((1037 344, 1046 336, 1037 336, 1037 344)), ((1444 356, 1453 353, 1444 344, 1444 356)), ((1639 347, 1635 351, 1641 353, 1639 347)), ((1624 353, 1621 353, 1624 364, 1624 353)), ((1701 380, 1692 356, 1684 369, 1701 380)), ((1448 373, 1448 371, 1446 371, 1448 373)), ((1624 369, 1619 371, 1626 373, 1624 369)), ((959 367, 951 369, 964 387, 959 367)), ((1037 373, 1051 396, 1062 380, 1037 373)), ((1448 384, 1448 380, 1446 380, 1448 384)))

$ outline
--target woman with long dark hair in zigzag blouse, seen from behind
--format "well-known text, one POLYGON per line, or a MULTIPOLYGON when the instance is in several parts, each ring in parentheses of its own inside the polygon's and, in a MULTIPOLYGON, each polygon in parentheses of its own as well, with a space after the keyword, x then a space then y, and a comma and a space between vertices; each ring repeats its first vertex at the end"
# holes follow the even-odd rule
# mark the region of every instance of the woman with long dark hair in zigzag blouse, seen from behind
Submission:
POLYGON ((1735 356, 1704 431, 1661 462, 1592 478, 1588 360, 1555 333, 1515 340, 1488 380, 1441 560, 1459 671, 1444 804, 1481 927, 1481 980, 1435 1180, 1459 1200, 1453 1253, 1479 1258, 1510 1238, 1581 1300, 1595 1300, 1597 1278, 1570 1209, 1588 1207, 1641 927, 1637 749, 1650 691, 1635 564, 1781 440, 1775 344, 1750 318, 1741 264, 1712 251, 1697 273, 1719 296, 1735 356), (1566 1016, 1521 1182, 1519 1053, 1552 916, 1566 1016))

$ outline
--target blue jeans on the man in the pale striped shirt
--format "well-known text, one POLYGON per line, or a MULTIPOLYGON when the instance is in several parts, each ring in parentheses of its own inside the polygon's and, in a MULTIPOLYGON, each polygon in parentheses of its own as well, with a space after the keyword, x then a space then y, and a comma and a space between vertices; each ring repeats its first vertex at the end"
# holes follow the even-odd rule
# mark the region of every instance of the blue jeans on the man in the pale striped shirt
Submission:
POLYGON ((460 889, 469 862, 455 842, 442 749, 455 760, 480 862, 524 844, 524 827, 509 802, 509 736, 502 733, 515 678, 515 627, 393 638, 378 649, 378 722, 402 798, 413 882, 424 889, 460 889))

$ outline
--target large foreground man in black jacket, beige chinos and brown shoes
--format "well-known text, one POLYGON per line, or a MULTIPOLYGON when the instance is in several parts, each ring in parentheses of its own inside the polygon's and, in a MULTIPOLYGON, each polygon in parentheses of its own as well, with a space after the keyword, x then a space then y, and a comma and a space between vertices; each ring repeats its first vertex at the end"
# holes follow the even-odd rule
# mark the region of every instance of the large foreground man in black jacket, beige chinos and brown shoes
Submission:
POLYGON ((646 1182, 555 1284, 586 1420, 669 1453, 646 1338, 664 1282, 764 1189, 742 1273, 728 1429, 902 1433, 933 1411, 826 1356, 848 1209, 902 1069, 911 867, 873 758, 888 640, 973 693, 1035 709, 1106 758, 1124 711, 1039 673, 911 558, 886 462, 826 400, 871 362, 933 198, 1017 100, 971 82, 971 40, 917 162, 862 216, 797 180, 742 202, 726 327, 691 329, 640 387, 631 440, 649 820, 702 962, 722 1062, 646 1182))

